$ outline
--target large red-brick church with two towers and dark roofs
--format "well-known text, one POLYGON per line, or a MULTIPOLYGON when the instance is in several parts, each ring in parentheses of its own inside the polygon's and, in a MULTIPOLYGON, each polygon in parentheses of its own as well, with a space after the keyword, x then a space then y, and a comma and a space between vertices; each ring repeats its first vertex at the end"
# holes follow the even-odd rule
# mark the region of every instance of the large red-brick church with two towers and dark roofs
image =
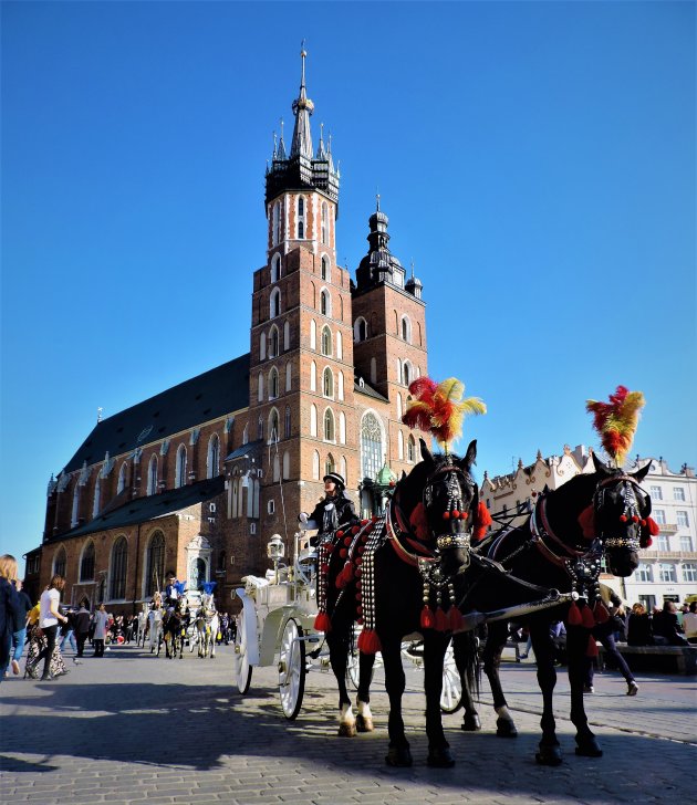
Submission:
POLYGON ((313 145, 301 54, 290 146, 266 175, 267 263, 253 273, 249 353, 98 421, 48 490, 43 541, 27 556, 37 596, 53 573, 64 600, 126 614, 174 571, 218 583, 220 609, 242 576, 291 553, 298 513, 340 472, 356 511, 378 511, 391 479, 419 460, 400 417, 427 373, 422 283, 368 220, 355 281, 336 263, 340 174, 313 145))

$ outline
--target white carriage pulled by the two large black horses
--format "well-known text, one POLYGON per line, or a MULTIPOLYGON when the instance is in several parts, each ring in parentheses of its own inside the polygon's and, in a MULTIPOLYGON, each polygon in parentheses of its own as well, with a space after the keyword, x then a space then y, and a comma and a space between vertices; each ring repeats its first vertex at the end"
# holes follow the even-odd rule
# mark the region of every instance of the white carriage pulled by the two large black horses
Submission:
MULTIPOLYGON (((267 577, 246 576, 245 587, 236 590, 242 602, 237 616, 235 639, 235 677, 240 693, 249 691, 254 667, 277 666, 281 709, 287 719, 295 719, 305 692, 305 676, 313 668, 329 668, 329 649, 324 632, 314 628, 318 614, 315 593, 316 554, 303 532, 294 534, 293 561, 281 565, 284 545, 277 534, 267 545, 274 569, 267 577), (312 647, 309 649, 309 647, 312 647)), ((360 629, 361 627, 356 627, 360 629)), ((357 638, 357 634, 355 635, 357 638)), ((346 673, 358 684, 356 639, 348 657, 346 673)), ((420 666, 418 640, 403 644, 403 658, 420 666)), ((440 707, 444 712, 460 708, 462 687, 448 649, 443 675, 440 707)))

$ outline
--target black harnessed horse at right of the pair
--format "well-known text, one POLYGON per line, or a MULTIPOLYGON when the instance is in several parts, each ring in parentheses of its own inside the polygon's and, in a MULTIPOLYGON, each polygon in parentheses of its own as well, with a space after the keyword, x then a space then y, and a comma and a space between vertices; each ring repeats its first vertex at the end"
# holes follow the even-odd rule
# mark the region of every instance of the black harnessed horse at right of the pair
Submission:
MULTIPOLYGON (((500 618, 488 625, 483 668, 498 715, 497 734, 501 736, 517 734, 499 679, 507 621, 510 618, 529 626, 543 696, 542 740, 537 761, 547 765, 562 761, 552 711, 556 672, 550 625, 563 620, 566 626, 576 754, 599 757, 602 750, 589 728, 583 705, 583 681, 589 656, 597 654, 591 629, 607 617, 600 596, 601 561, 605 560, 613 575, 631 575, 638 565, 639 545, 648 544, 652 526, 651 499, 639 488, 648 466, 626 474, 610 469, 595 454, 593 460, 594 473, 576 475, 559 489, 543 492, 523 525, 487 537, 472 551, 467 572, 457 579, 461 596, 458 606, 469 626, 479 619, 477 613, 498 610, 500 618), (574 600, 543 608, 553 602, 554 592, 550 596, 550 590, 571 593, 574 597, 578 594, 578 604, 574 600), (544 599, 545 604, 534 606, 544 599), (516 613, 518 606, 529 614, 516 613)), ((464 647, 458 646, 460 639, 460 636, 455 638, 456 660, 464 652, 464 647)), ((467 691, 462 729, 480 729, 467 691)))

